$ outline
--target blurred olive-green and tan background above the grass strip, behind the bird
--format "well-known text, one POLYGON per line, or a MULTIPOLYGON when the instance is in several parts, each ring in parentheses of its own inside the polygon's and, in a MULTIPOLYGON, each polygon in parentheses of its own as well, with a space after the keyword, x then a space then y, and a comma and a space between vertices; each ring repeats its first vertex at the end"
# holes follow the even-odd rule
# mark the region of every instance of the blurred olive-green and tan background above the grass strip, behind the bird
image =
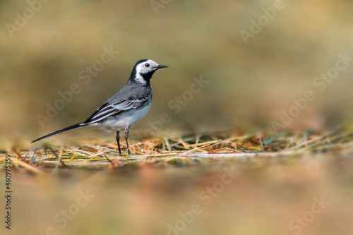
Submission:
MULTIPOLYGON (((292 99, 306 90, 314 90, 316 100, 288 128, 349 123, 353 66, 340 71, 323 92, 317 92, 313 79, 335 66, 337 54, 353 56, 352 2, 283 1, 276 16, 245 44, 240 30, 250 32, 251 19, 257 21, 264 14, 261 8, 273 5, 170 1, 156 14, 150 1, 49 1, 9 33, 6 23, 16 25, 16 13, 24 16, 30 5, 1 1, 1 133, 33 138, 83 121, 126 83, 138 59, 169 68, 152 78, 152 107, 132 135, 143 135, 148 121, 162 113, 171 121, 157 134, 272 129, 281 110, 287 112, 292 99), (119 54, 86 85, 79 73, 100 60, 103 47, 119 54), (174 114, 168 102, 190 90, 193 76, 201 75, 209 83, 174 114), (54 105, 61 99, 58 92, 73 83, 80 92, 42 128, 37 114, 45 115, 47 103, 54 105)), ((71 135, 80 132, 85 131, 71 135)))

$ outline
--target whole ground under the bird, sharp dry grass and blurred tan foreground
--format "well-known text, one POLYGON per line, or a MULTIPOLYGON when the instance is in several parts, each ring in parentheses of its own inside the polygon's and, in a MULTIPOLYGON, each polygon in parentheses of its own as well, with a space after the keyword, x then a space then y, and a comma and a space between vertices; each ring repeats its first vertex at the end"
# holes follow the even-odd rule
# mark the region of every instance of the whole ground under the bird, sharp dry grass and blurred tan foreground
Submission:
POLYGON ((350 234, 352 137, 343 131, 210 133, 131 140, 132 156, 118 156, 114 143, 99 140, 13 149, 12 229, 350 234))

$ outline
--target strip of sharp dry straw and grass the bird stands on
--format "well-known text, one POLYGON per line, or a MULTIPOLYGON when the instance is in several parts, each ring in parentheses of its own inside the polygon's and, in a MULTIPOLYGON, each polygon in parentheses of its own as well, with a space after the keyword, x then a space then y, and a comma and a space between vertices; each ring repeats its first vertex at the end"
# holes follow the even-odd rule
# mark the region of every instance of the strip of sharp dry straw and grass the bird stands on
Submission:
MULTIPOLYGON (((9 154, 16 169, 34 173, 52 169, 116 169, 136 168, 144 164, 157 167, 189 166, 229 159, 254 157, 293 157, 302 152, 334 154, 349 149, 352 133, 309 133, 294 135, 282 131, 273 135, 232 136, 229 133, 191 135, 180 138, 159 138, 143 142, 131 141, 132 155, 119 155, 113 143, 72 143, 69 146, 42 146, 35 149, 13 149, 9 154)), ((4 157, 1 162, 4 161, 4 157)), ((4 168, 4 164, 1 164, 4 168)))

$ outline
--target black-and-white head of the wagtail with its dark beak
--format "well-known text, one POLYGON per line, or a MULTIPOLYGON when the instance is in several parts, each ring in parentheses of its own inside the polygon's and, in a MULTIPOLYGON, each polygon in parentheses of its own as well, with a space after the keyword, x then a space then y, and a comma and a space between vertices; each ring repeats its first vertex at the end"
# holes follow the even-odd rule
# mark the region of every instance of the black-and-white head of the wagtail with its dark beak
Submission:
POLYGON ((133 71, 131 72, 131 79, 138 83, 148 83, 152 78, 153 73, 160 68, 167 68, 161 64, 157 64, 155 61, 150 59, 141 59, 136 62, 133 66, 133 71))

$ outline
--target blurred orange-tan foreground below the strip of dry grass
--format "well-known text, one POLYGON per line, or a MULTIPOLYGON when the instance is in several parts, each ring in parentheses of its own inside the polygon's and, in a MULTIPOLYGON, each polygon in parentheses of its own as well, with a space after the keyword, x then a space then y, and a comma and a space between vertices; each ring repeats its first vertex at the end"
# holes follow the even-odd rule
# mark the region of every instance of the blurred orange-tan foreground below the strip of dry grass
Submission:
POLYGON ((352 234, 349 155, 217 162, 162 167, 146 161, 138 169, 61 169, 44 176, 19 170, 12 176, 12 229, 2 224, 0 232, 352 234), (237 174, 222 187, 225 169, 237 174), (193 205, 199 208, 191 216, 193 205))

